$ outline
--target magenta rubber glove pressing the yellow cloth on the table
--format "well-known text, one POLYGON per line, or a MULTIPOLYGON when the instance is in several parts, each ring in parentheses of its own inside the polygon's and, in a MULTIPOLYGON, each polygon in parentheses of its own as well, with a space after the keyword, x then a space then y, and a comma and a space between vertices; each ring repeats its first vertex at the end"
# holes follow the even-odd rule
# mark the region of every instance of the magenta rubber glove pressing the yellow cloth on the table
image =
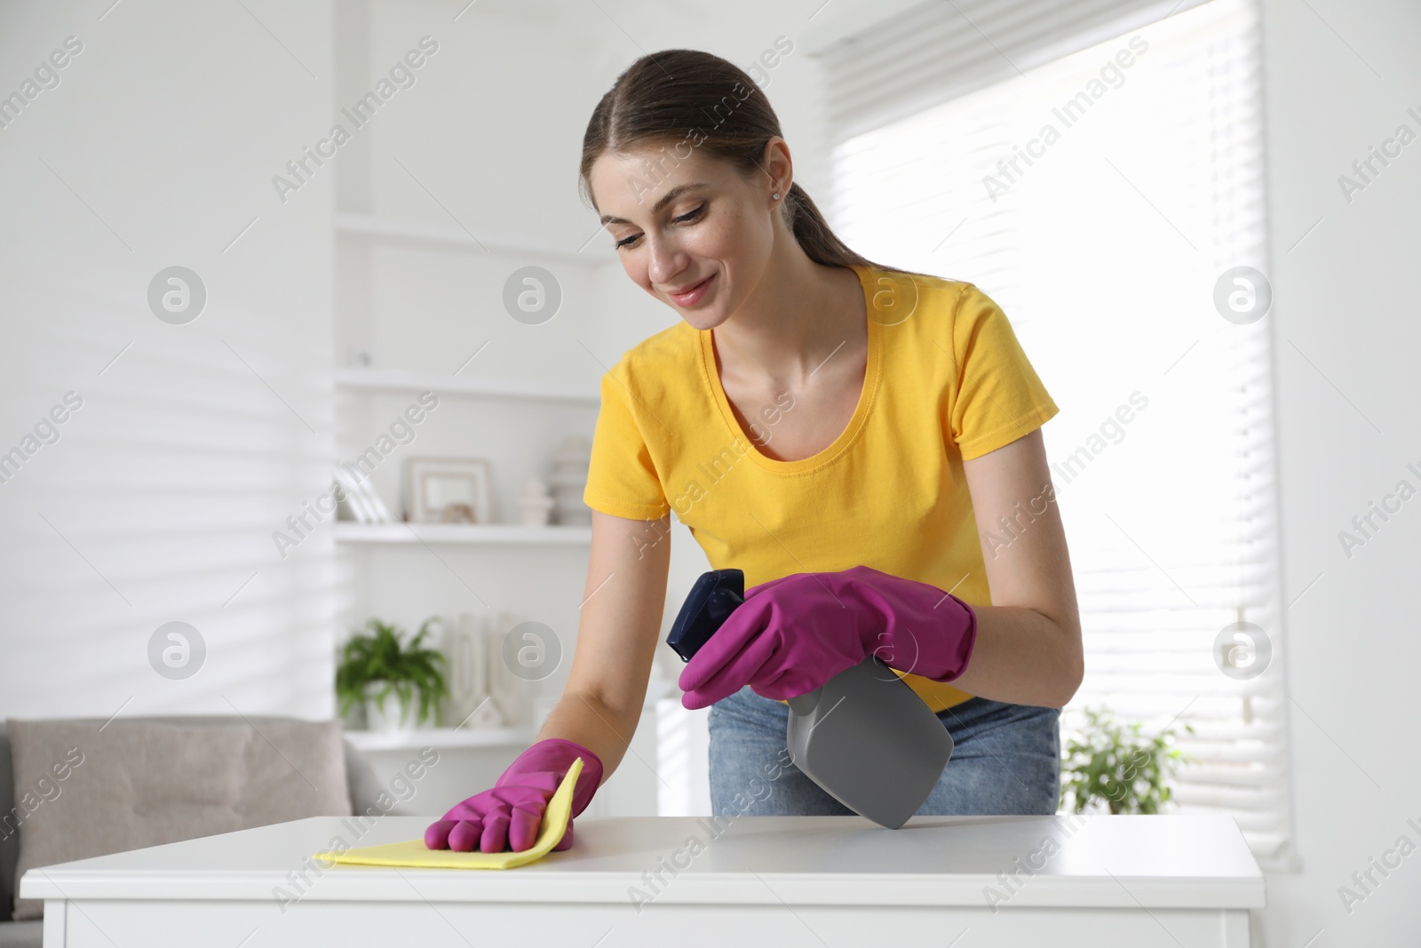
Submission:
MULTIPOLYGON (((573 816, 587 809, 603 782, 603 762, 580 743, 561 738, 539 740, 509 765, 493 789, 475 793, 425 830, 425 847, 459 853, 514 853, 533 849, 543 812, 573 762, 583 759, 583 772, 573 790, 573 816), (512 844, 512 846, 510 846, 512 844)), ((573 820, 554 850, 573 846, 573 820)))

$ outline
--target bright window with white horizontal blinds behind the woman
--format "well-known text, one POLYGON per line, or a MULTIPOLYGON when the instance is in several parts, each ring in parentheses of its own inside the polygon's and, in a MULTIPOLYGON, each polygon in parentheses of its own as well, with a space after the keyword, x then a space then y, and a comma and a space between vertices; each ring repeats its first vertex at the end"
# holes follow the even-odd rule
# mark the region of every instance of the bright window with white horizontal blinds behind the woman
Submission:
MULTIPOLYGON (((1174 809, 1232 814, 1282 867, 1269 323, 1239 324, 1214 301, 1232 267, 1268 271, 1258 11, 1214 0, 1167 13, 887 122, 867 98, 837 107, 826 203, 867 257, 988 291, 1061 406, 1043 435, 1087 652, 1063 736, 1087 705, 1147 735, 1172 726, 1192 758, 1174 809), (1222 671, 1249 657, 1232 637, 1216 645, 1239 621, 1262 630, 1249 677, 1222 671)), ((882 34, 875 55, 890 63, 882 34)), ((880 94, 894 88, 882 78, 880 94)))

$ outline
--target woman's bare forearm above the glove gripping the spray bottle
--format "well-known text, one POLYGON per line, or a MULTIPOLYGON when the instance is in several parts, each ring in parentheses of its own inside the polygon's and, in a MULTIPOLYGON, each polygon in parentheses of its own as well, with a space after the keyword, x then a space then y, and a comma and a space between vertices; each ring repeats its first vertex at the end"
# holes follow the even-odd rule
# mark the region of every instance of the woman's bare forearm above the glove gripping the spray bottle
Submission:
POLYGON ((1061 708, 1084 674, 1080 632, 1033 608, 973 605, 978 637, 968 668, 952 684, 1016 705, 1061 708))

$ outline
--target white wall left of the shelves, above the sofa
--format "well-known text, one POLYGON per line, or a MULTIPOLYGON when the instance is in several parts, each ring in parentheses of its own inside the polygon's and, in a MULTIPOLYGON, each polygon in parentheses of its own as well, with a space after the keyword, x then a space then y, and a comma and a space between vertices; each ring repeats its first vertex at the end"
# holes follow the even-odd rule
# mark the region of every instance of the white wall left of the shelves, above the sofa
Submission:
POLYGON ((270 534, 331 455, 331 182, 271 186, 330 121, 330 9, 109 6, 0 10, 4 94, 82 43, 0 128, 0 451, 82 398, 0 485, 0 715, 328 716, 330 537, 270 534), (186 325, 148 307, 173 264, 186 325), (169 621, 206 642, 183 681, 169 621))

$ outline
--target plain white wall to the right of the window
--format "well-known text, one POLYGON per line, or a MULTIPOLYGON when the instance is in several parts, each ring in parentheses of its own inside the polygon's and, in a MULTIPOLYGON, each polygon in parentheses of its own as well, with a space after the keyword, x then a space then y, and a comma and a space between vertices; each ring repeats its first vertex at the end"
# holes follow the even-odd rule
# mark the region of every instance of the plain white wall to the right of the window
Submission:
POLYGON ((1407 114, 1421 112, 1418 37, 1421 9, 1405 0, 1263 0, 1276 291, 1268 318, 1302 856, 1299 874, 1269 877, 1263 928, 1275 948, 1300 947, 1319 930, 1317 948, 1415 944, 1421 932, 1421 856, 1388 878, 1374 873, 1381 884, 1350 912, 1337 891, 1400 836, 1421 846, 1407 826, 1421 823, 1421 500, 1404 505, 1351 559, 1337 539, 1398 480, 1421 488, 1405 466, 1421 469, 1421 145, 1403 149, 1350 203, 1337 183, 1397 125, 1421 134, 1421 119, 1407 114))

